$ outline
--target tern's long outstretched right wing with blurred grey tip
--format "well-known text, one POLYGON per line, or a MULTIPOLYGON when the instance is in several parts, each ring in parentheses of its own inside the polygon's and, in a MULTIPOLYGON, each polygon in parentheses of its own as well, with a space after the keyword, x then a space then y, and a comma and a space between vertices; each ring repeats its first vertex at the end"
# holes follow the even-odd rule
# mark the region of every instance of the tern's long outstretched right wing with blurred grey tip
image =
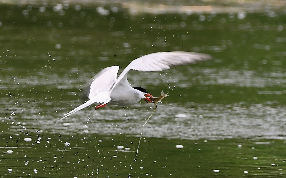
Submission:
POLYGON ((162 71, 170 69, 172 66, 194 64, 197 61, 208 60, 212 57, 208 54, 196 53, 196 52, 184 52, 184 51, 171 51, 171 52, 156 52, 141 56, 128 64, 128 66, 118 76, 117 81, 113 85, 112 89, 122 82, 120 80, 127 79, 129 70, 138 71, 162 71))

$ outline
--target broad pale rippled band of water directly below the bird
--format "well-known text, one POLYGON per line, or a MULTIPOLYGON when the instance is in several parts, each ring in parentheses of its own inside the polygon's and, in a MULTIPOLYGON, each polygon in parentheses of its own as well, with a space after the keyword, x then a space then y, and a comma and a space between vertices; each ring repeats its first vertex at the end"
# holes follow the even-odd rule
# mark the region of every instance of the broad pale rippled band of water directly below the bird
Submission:
MULTIPOLYGON (((57 112, 51 118, 30 116, 25 122, 27 125, 32 124, 51 133, 70 134, 85 131, 83 133, 121 133, 140 136, 139 130, 142 130, 142 124, 151 110, 148 105, 140 103, 124 109, 112 106, 101 110, 84 109, 69 116, 69 124, 64 124, 65 127, 60 123, 54 124, 54 120, 61 118, 65 112, 57 112), (37 119, 37 122, 33 122, 34 119, 31 118, 37 119)), ((21 114, 24 113, 18 113, 18 117, 21 117, 21 114)), ((283 136, 286 130, 285 116, 284 106, 273 107, 268 104, 251 104, 247 108, 243 102, 228 105, 160 104, 144 127, 143 135, 180 139, 236 137, 281 139, 285 137, 283 136)), ((32 138, 24 140, 31 141, 32 138)))

